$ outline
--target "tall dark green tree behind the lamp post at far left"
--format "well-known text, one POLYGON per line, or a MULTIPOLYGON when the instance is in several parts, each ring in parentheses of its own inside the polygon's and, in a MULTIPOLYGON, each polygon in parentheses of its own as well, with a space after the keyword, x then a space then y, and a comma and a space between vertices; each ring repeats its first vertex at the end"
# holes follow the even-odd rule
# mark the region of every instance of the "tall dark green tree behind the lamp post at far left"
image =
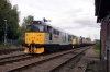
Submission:
POLYGON ((18 5, 11 5, 9 0, 0 0, 0 40, 4 37, 7 20, 7 38, 19 38, 19 14, 18 5))

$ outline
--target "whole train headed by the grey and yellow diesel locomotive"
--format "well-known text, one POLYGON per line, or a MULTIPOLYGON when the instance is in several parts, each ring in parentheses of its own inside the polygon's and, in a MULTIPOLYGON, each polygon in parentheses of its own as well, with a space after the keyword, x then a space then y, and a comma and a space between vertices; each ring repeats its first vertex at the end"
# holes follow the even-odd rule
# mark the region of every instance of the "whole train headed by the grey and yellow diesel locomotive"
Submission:
POLYGON ((51 26, 44 21, 32 21, 26 25, 24 52, 43 53, 92 45, 91 41, 51 26), (86 43, 85 43, 86 40, 86 43))

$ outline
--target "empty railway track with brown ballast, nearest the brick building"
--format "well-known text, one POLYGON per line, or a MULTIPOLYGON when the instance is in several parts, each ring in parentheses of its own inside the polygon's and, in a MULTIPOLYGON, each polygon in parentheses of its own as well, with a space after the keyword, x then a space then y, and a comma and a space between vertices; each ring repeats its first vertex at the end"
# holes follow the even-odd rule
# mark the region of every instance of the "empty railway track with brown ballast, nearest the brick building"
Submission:
POLYGON ((55 52, 52 55, 45 55, 40 57, 33 57, 18 62, 4 64, 0 67, 2 72, 53 72, 62 67, 64 63, 70 61, 78 55, 82 53, 88 48, 73 49, 62 52, 55 52), (37 67, 36 67, 37 65, 37 67), (43 65, 45 65, 43 68, 43 65), (41 69, 42 68, 42 69, 41 69), (36 70, 35 70, 36 69, 36 70), (48 70, 47 70, 48 69, 48 70))

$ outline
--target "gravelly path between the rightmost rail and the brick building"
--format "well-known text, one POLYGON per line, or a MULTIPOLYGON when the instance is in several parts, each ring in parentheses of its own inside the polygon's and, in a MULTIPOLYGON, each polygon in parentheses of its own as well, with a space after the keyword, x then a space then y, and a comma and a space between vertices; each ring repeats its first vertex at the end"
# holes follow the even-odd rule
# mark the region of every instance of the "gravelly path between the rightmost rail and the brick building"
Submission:
POLYGON ((94 48, 88 49, 85 56, 80 59, 74 72, 105 72, 100 58, 95 52, 94 48))

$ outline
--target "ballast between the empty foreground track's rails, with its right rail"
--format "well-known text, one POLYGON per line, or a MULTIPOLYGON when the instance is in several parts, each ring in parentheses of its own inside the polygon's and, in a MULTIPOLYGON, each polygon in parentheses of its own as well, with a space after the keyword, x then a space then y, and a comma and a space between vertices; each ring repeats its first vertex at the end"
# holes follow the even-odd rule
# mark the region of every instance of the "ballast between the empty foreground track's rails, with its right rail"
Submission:
POLYGON ((24 70, 23 72, 68 72, 62 71, 62 67, 65 65, 67 62, 72 61, 73 59, 75 59, 76 57, 78 57, 79 59, 84 55, 82 52, 87 49, 82 49, 80 51, 70 51, 66 55, 55 57, 41 63, 36 63, 34 68, 24 70))

